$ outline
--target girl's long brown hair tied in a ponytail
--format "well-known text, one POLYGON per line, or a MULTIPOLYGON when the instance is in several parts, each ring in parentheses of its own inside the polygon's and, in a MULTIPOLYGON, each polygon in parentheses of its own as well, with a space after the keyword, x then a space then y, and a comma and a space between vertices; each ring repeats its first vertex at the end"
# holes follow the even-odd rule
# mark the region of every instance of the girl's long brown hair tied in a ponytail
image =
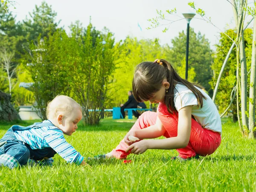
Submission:
POLYGON ((165 94, 164 102, 170 113, 177 111, 174 105, 174 83, 184 84, 188 87, 195 94, 198 107, 203 107, 203 98, 206 99, 206 97, 195 86, 204 87, 182 79, 168 61, 164 59, 160 59, 160 61, 163 63, 162 65, 157 62, 142 62, 137 66, 132 81, 132 90, 137 102, 152 99, 154 93, 160 90, 163 79, 167 79, 170 87, 168 93, 165 94))

